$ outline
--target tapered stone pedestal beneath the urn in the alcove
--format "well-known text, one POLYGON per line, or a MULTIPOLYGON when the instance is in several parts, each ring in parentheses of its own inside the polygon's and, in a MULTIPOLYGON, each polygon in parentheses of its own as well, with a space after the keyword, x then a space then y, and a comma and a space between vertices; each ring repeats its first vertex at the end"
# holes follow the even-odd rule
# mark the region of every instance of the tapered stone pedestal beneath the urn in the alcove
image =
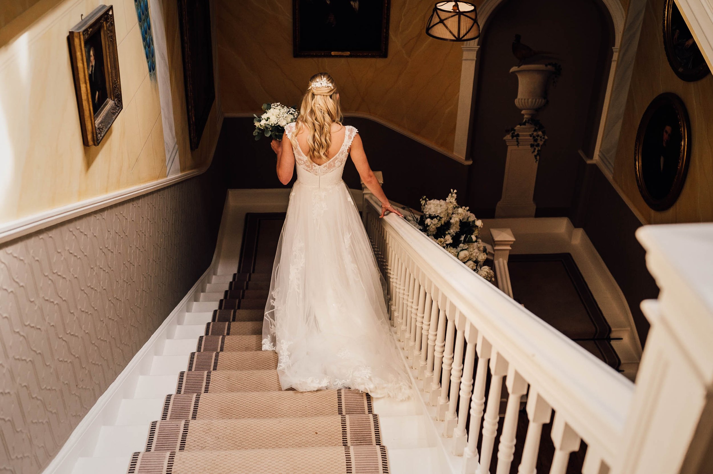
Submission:
POLYGON ((537 177, 537 162, 530 149, 530 138, 534 127, 518 125, 516 133, 520 134, 518 146, 515 138, 505 137, 508 145, 508 155, 503 178, 503 196, 495 208, 495 217, 535 217, 535 177, 537 177))

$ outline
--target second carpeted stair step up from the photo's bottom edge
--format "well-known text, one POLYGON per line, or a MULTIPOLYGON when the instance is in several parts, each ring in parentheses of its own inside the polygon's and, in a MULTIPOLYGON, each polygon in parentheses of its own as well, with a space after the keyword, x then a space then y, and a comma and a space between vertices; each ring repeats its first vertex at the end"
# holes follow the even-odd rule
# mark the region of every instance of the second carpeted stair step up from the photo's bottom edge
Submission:
POLYGON ((146 451, 380 445, 376 415, 154 421, 146 451))

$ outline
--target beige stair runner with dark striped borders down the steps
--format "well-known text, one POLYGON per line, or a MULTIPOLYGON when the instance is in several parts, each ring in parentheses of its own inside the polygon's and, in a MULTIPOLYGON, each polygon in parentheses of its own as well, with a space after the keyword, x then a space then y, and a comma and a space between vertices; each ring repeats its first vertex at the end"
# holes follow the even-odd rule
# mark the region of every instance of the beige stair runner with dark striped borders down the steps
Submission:
POLYGON ((280 388, 261 350, 269 287, 267 272, 233 276, 128 474, 389 473, 368 394, 280 388))

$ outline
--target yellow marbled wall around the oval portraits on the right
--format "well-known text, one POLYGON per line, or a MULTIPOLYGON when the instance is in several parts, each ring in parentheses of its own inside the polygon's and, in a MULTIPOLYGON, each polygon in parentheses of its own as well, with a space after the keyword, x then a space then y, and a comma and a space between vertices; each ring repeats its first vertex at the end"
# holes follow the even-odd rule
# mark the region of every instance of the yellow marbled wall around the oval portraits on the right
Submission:
POLYGON ((680 80, 663 47, 664 0, 648 0, 634 63, 631 87, 614 165, 614 179, 650 224, 713 220, 713 76, 697 82, 680 80), (692 143, 688 176, 677 202, 669 210, 651 210, 641 197, 634 173, 634 143, 644 110, 663 92, 680 96, 691 121, 692 143))

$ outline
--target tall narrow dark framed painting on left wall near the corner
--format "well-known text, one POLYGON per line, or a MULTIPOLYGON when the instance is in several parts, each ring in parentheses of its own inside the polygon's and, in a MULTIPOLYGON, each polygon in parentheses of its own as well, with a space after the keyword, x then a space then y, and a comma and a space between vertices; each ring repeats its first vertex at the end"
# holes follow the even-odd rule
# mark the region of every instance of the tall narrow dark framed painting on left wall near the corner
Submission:
POLYGON ((213 52, 210 34, 210 1, 178 0, 183 81, 188 112, 190 149, 200 144, 203 129, 215 101, 213 52))

